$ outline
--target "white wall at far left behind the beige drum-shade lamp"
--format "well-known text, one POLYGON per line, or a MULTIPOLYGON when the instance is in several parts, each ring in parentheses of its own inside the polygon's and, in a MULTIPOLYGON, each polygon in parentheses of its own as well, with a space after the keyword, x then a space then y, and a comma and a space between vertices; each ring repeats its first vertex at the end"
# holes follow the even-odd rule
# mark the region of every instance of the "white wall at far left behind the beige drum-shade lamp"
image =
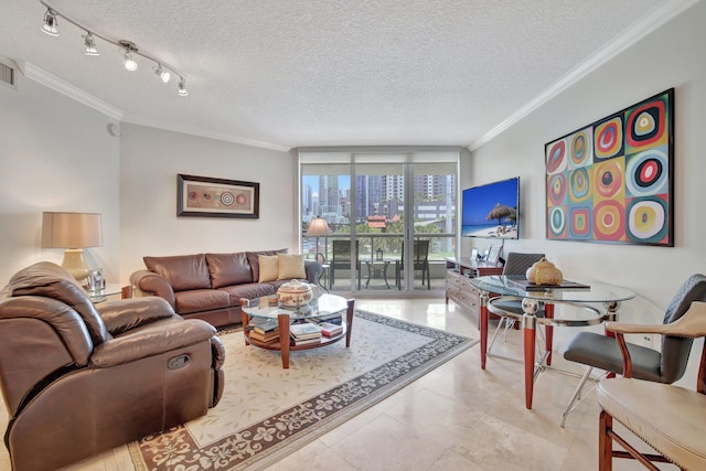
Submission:
POLYGON ((17 90, 0 85, 0 288, 35 261, 62 263, 62 249, 41 248, 44 211, 101 213, 104 245, 86 249, 86 261, 117 281, 120 143, 110 119, 17 77, 17 90))

